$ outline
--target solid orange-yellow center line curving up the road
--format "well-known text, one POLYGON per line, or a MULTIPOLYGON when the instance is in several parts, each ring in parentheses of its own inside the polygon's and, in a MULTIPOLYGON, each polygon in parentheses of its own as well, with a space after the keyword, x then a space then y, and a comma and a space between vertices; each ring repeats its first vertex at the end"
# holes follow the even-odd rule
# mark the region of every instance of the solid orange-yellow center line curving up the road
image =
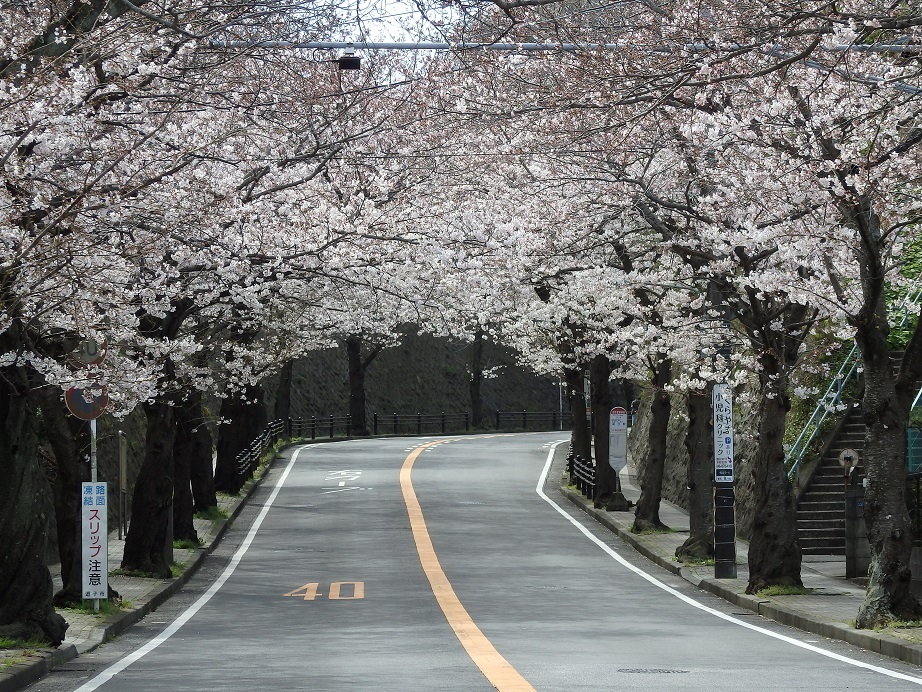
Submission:
POLYGON ((423 510, 419 506, 419 500, 416 499, 416 492, 413 490, 413 483, 410 480, 410 471, 413 469, 413 463, 416 458, 423 450, 443 441, 429 442, 417 447, 406 458, 403 462, 403 467, 400 469, 400 489, 403 491, 403 500, 407 505, 407 514, 410 517, 410 528, 413 530, 413 539, 416 541, 416 552, 419 553, 419 561, 423 566, 426 577, 429 579, 432 593, 435 594, 439 607, 445 614, 445 619, 448 620, 448 624, 451 625, 464 650, 467 651, 467 655, 480 668, 487 680, 500 692, 505 690, 531 690, 531 692, 534 692, 535 688, 500 655, 490 643, 490 640, 480 631, 480 628, 474 624, 467 610, 461 605, 461 601, 455 594, 448 577, 445 576, 445 572, 442 571, 435 549, 432 547, 429 530, 426 528, 426 521, 423 518, 423 510))

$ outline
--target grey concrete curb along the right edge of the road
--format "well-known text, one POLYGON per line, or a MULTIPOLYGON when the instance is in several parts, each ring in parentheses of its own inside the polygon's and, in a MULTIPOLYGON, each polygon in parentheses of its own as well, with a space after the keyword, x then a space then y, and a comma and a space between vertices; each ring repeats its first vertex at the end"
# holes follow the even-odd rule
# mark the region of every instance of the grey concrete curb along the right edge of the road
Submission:
POLYGON ((787 625, 788 627, 793 627, 805 632, 811 632, 812 634, 818 634, 827 639, 838 639, 883 656, 889 656, 890 658, 895 658, 905 663, 922 666, 922 646, 918 644, 910 644, 898 637, 880 634, 873 630, 859 630, 838 622, 823 622, 796 610, 785 608, 772 601, 767 601, 757 596, 750 596, 749 594, 737 593, 727 588, 723 583, 713 577, 705 577, 702 579, 691 573, 681 563, 667 560, 662 555, 651 550, 643 543, 641 537, 629 531, 625 531, 610 518, 607 512, 598 510, 590 505, 579 493, 573 492, 562 484, 560 486, 560 491, 570 502, 576 505, 576 507, 617 535, 645 558, 672 574, 681 576, 685 581, 698 587, 702 591, 707 591, 708 593, 723 598, 725 601, 735 606, 750 610, 753 613, 774 620, 779 624, 787 625))

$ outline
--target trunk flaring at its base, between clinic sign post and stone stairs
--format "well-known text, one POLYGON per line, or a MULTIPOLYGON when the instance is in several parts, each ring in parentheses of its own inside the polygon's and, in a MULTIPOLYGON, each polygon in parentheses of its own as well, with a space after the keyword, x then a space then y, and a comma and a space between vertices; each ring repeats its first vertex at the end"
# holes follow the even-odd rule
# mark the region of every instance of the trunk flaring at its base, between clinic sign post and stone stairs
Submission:
POLYGON ((763 350, 759 364, 762 393, 759 444, 753 458, 755 511, 749 542, 749 594, 768 586, 803 586, 794 493, 784 465, 784 425, 791 408, 787 366, 770 349, 763 350))

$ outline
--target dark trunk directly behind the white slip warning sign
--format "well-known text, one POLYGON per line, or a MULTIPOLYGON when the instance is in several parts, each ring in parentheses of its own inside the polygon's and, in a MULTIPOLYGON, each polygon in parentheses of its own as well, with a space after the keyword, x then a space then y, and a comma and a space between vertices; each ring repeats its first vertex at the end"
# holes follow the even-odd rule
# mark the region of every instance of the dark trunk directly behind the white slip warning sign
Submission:
POLYGON ((83 575, 80 566, 80 484, 90 480, 84 458, 89 451, 88 427, 67 414, 56 387, 38 390, 45 436, 57 465, 54 482, 55 522, 58 530, 58 556, 63 586, 54 596, 56 606, 83 600, 83 575))

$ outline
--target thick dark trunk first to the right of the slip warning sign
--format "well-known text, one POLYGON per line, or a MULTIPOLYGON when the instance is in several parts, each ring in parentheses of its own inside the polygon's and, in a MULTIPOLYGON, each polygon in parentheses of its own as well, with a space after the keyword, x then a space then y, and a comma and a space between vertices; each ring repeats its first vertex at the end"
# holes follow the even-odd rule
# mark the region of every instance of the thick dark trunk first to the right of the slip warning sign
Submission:
POLYGON ((131 503, 131 523, 125 538, 122 569, 171 576, 167 533, 173 498, 173 407, 157 400, 144 404, 147 442, 131 503))

